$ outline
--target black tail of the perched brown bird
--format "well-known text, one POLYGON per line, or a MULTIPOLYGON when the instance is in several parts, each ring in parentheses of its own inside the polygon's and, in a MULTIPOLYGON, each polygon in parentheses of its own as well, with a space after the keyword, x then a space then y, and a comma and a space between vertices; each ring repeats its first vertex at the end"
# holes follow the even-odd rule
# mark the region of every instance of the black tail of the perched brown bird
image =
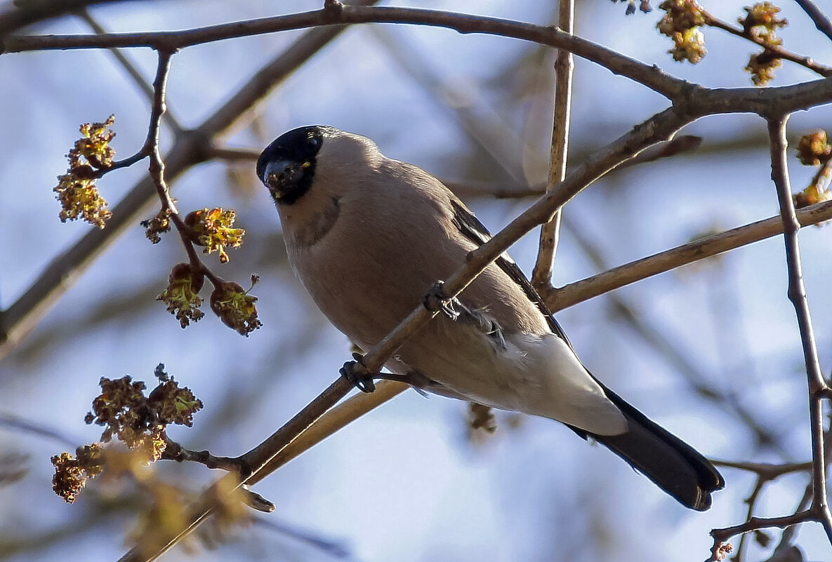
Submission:
POLYGON ((572 430, 584 439, 589 436, 602 443, 682 505, 699 511, 711 507, 711 492, 725 486, 716 467, 685 441, 624 402, 615 392, 607 387, 604 392, 624 412, 629 431, 603 436, 575 427, 572 430))

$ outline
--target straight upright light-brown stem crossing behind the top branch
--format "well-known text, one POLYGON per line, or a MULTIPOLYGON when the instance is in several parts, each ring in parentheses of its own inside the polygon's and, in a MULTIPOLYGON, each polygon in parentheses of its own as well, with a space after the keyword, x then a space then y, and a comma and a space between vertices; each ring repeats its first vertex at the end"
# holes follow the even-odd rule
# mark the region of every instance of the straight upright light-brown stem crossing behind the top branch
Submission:
MULTIPOLYGON (((574 29, 574 0, 558 2, 558 27, 570 35, 574 29)), ((549 173, 546 190, 551 191, 567 175, 567 151, 569 147, 569 121, 572 113, 572 72, 575 68, 572 53, 564 49, 557 50, 555 60, 555 111, 552 122, 552 148, 549 152, 549 173)), ((561 216, 563 210, 557 210, 546 224, 540 228, 540 242, 537 249, 537 261, 532 269, 532 285, 539 289, 552 286, 555 267, 555 254, 560 241, 561 216)))

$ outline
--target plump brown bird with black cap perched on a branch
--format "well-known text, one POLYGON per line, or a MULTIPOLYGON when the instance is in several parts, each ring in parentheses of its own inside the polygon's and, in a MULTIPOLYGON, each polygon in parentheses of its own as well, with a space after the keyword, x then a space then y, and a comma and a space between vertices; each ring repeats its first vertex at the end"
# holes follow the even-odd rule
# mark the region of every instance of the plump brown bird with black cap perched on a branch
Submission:
POLYGON ((562 422, 682 505, 711 507, 711 492, 725 486, 716 467, 584 367, 508 254, 446 300, 441 280, 490 234, 440 180, 331 126, 277 137, 256 173, 277 207, 295 275, 359 348, 372 348, 420 303, 438 298, 446 313, 395 352, 387 377, 562 422))

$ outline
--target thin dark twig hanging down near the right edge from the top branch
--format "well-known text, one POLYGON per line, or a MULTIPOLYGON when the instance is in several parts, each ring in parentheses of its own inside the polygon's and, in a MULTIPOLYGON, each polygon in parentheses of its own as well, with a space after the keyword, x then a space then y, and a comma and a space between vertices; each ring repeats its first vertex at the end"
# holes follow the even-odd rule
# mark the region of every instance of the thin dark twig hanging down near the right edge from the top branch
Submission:
POLYGON ((812 495, 811 511, 826 531, 832 544, 832 514, 826 496, 826 462, 824 447, 824 414, 822 392, 828 389, 823 372, 820 370, 815 332, 809 311, 809 301, 803 283, 803 270, 800 264, 800 243, 798 231, 800 222, 795 214, 795 205, 791 198, 789 171, 786 160, 787 141, 785 123, 788 115, 774 116, 769 119, 769 138, 771 143, 771 179, 777 188, 777 200, 780 204, 780 216, 783 220, 783 239, 785 241, 786 264, 789 270, 789 299, 795 306, 797 323, 800 327, 800 341, 806 364, 806 376, 809 386, 810 432, 812 437, 812 495))

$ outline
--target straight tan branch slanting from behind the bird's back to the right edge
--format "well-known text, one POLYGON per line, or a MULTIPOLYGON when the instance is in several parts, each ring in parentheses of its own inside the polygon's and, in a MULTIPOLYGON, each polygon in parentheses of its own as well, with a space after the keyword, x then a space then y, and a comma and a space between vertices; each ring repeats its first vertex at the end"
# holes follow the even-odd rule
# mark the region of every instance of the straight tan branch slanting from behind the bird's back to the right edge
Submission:
MULTIPOLYGON (((801 226, 818 224, 832 219, 832 201, 811 205, 797 211, 801 226)), ((712 234, 676 248, 636 259, 629 264, 619 265, 601 274, 593 275, 574 283, 568 283, 541 295, 552 312, 571 307, 575 303, 608 293, 641 279, 661 274, 682 265, 692 264, 700 259, 737 249, 741 246, 782 234, 783 222, 780 217, 745 224, 735 229, 712 234)))

